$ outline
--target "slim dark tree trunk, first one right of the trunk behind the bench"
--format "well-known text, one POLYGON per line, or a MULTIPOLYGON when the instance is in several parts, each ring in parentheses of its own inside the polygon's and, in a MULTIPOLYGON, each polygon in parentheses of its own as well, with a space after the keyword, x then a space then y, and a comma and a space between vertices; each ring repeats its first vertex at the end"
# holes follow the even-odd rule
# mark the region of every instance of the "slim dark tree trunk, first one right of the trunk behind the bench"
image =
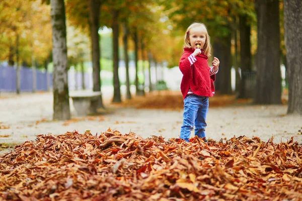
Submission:
POLYGON ((112 32, 113 32, 113 103, 121 103, 121 90, 118 77, 118 35, 119 35, 119 25, 118 25, 118 11, 112 10, 112 32))

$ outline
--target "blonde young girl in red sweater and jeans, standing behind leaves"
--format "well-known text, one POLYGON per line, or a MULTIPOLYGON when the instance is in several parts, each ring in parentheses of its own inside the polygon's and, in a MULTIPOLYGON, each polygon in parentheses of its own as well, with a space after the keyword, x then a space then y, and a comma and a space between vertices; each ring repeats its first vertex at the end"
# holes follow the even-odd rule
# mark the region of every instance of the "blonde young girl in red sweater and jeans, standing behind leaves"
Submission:
MULTIPOLYGON (((184 52, 179 61, 183 74, 180 89, 184 98, 183 125, 180 138, 189 142, 195 125, 195 135, 205 137, 206 115, 209 96, 214 95, 215 74, 219 60, 214 57, 212 67, 208 66, 211 45, 207 29, 202 23, 191 24, 185 34, 184 52)), ((206 142, 206 139, 204 138, 206 142)))

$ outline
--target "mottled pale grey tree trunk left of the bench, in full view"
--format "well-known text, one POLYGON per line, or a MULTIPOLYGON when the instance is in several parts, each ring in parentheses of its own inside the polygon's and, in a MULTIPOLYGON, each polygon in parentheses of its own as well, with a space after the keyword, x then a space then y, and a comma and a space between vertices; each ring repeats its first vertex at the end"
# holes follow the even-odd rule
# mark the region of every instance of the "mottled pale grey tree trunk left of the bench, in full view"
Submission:
POLYGON ((70 120, 67 82, 67 46, 63 0, 51 0, 53 58, 53 120, 70 120))

